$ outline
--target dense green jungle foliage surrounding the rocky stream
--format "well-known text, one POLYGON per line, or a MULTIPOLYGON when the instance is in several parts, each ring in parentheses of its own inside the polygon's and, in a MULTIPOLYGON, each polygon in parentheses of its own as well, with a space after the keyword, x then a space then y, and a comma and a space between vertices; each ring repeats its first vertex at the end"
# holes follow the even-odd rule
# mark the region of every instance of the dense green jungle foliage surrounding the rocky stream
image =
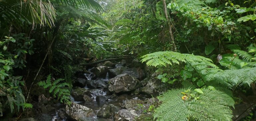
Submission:
POLYGON ((124 56, 178 83, 155 120, 235 119, 256 96, 255 11, 254 0, 0 0, 0 117, 29 114, 42 94, 70 104, 81 63, 124 56))

